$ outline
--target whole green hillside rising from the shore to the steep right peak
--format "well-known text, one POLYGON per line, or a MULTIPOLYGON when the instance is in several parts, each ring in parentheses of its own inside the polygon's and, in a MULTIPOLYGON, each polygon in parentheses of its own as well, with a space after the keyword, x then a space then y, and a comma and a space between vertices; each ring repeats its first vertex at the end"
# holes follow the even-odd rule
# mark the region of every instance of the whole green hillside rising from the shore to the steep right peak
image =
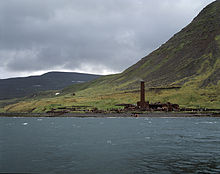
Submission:
POLYGON ((146 82, 150 102, 220 108, 220 1, 208 5, 188 26, 124 72, 70 86, 59 97, 29 98, 2 111, 45 112, 72 105, 108 109, 136 103, 140 80, 146 82), (169 89, 172 86, 181 88, 169 89))

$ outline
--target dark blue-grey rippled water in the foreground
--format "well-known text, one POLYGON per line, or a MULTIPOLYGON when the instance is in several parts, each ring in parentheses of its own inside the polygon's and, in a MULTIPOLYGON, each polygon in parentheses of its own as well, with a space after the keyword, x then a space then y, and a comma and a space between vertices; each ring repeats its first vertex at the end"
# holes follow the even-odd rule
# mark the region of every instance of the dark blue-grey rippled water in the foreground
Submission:
POLYGON ((0 118, 0 172, 220 173, 220 119, 0 118))

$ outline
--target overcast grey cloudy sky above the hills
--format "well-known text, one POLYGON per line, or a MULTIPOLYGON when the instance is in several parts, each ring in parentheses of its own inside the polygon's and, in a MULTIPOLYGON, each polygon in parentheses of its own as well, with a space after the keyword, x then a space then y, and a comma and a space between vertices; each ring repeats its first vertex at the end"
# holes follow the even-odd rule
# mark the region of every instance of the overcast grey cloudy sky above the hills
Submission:
POLYGON ((121 72, 214 0, 0 0, 0 78, 121 72))

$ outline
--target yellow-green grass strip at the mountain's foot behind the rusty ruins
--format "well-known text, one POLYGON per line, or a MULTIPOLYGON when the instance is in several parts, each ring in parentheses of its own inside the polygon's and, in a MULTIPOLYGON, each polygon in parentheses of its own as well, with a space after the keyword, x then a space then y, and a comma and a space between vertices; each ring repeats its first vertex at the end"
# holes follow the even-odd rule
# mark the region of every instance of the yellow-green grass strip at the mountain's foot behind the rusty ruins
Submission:
MULTIPOLYGON (((198 79, 197 79, 198 80, 198 79)), ((199 81, 199 80, 198 80, 199 81)), ((154 102, 177 103, 181 107, 191 108, 220 108, 220 83, 201 89, 196 86, 198 83, 190 81, 181 89, 169 89, 146 91, 146 100, 154 102)), ((64 106, 92 106, 98 109, 118 108, 115 104, 131 103, 136 104, 139 100, 139 92, 134 91, 116 91, 106 86, 98 88, 91 87, 76 92, 75 96, 64 94, 59 97, 28 99, 16 104, 1 108, 1 112, 47 112, 52 108, 64 106)))

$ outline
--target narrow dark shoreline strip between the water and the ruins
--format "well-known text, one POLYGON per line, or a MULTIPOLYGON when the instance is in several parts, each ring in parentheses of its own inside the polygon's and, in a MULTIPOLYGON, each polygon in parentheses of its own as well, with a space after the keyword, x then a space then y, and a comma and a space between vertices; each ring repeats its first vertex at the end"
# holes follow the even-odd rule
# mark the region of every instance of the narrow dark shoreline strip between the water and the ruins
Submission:
POLYGON ((220 113, 182 113, 182 112, 149 112, 149 113, 0 113, 0 117, 76 117, 76 118, 109 118, 109 117, 220 117, 220 113))

